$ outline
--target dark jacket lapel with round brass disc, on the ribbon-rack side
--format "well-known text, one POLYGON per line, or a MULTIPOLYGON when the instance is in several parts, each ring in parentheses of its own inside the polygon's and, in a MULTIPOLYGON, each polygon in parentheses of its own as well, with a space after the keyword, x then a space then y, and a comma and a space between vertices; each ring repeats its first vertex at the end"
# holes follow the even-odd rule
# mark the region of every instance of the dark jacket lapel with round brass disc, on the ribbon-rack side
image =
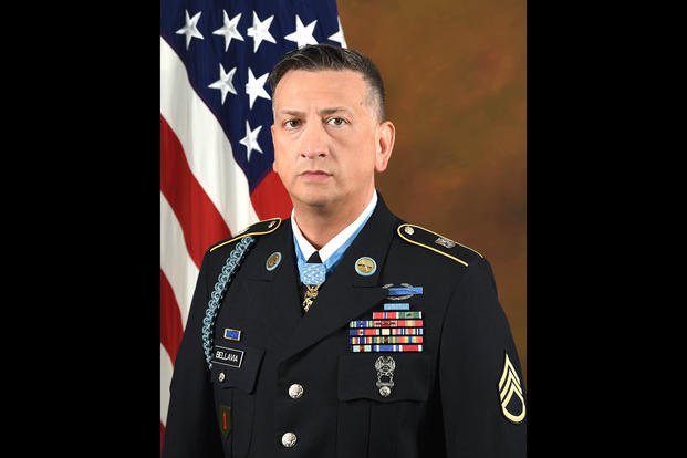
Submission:
POLYGON ((398 219, 393 216, 377 195, 377 206, 334 271, 327 275, 312 309, 300 320, 295 332, 284 347, 281 360, 315 344, 351 320, 378 304, 386 291, 379 284, 389 244, 398 219), (376 271, 363 277, 355 270, 355 261, 369 257, 376 271))

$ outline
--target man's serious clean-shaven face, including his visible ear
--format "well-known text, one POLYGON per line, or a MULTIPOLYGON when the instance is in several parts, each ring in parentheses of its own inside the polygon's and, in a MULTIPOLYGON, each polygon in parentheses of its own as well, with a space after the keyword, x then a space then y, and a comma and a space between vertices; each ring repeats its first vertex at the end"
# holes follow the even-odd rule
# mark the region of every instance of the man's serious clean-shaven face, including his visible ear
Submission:
POLYGON ((394 140, 393 124, 376 118, 363 76, 292 70, 273 103, 273 168, 294 206, 362 211, 394 140))

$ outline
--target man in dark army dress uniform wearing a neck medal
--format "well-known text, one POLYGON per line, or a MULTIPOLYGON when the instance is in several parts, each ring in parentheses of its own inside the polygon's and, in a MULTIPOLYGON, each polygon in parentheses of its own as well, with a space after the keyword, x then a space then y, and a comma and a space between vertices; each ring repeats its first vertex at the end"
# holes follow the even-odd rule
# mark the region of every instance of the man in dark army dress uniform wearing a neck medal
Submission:
POLYGON ((163 457, 524 457, 489 263, 375 190, 395 136, 375 65, 305 46, 270 84, 292 217, 206 253, 163 457))

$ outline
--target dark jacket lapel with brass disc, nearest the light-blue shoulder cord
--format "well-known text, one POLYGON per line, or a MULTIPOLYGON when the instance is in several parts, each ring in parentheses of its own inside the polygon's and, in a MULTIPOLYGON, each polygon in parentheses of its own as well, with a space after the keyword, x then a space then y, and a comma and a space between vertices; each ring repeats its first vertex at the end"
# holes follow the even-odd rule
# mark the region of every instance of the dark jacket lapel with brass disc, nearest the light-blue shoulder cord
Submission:
POLYGON ((261 309, 270 341, 273 340, 274 347, 283 347, 302 320, 291 221, 282 221, 275 233, 260 239, 253 256, 246 289, 253 306, 261 309), (274 270, 269 271, 267 259, 277 251, 282 259, 274 270))

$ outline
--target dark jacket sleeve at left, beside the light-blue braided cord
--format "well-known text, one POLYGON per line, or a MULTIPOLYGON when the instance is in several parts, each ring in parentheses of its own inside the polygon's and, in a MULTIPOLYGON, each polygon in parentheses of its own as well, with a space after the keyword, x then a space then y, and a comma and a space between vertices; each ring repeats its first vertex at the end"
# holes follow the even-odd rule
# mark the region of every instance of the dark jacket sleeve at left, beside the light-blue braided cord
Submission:
POLYGON ((202 319, 214 285, 206 253, 174 365, 163 458, 221 457, 210 373, 202 351, 202 319), (211 283, 211 284, 209 284, 211 283))

